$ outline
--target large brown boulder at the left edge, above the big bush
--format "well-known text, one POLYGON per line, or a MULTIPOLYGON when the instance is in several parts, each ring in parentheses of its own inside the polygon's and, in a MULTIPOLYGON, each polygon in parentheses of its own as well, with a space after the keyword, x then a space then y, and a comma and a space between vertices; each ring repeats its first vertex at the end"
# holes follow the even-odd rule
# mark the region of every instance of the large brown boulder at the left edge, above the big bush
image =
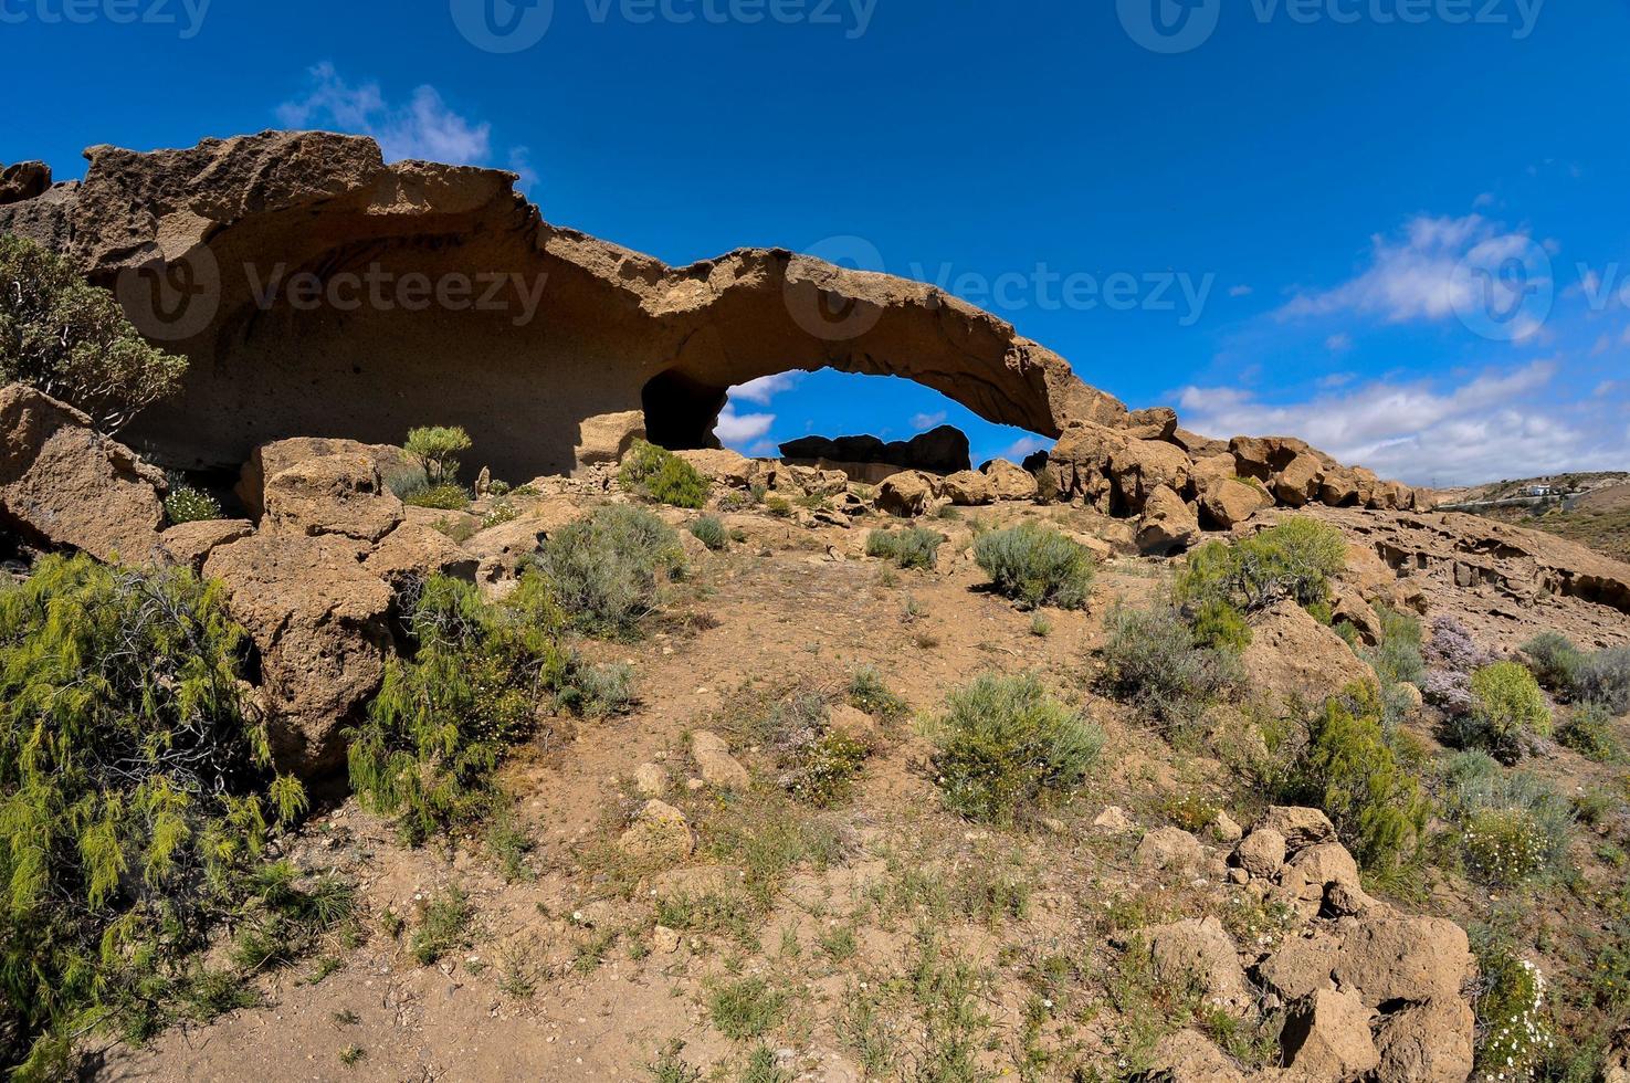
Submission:
POLYGON ((165 527, 165 475, 78 409, 0 388, 0 525, 96 559, 147 561, 165 527))

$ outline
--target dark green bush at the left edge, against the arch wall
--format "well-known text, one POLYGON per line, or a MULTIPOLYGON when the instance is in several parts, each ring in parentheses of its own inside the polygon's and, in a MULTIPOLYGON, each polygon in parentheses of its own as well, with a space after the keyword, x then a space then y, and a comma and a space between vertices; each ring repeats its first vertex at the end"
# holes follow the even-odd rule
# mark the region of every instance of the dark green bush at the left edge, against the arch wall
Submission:
POLYGON ((137 333, 119 302, 62 256, 0 233, 0 387, 26 383, 117 432, 181 390, 184 357, 137 333))

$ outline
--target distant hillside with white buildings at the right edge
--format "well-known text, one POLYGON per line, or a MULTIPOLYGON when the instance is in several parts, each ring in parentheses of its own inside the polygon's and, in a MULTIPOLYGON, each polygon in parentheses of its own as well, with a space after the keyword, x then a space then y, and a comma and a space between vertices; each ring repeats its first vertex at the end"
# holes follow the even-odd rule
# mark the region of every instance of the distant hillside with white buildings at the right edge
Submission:
POLYGON ((1630 473, 1565 473, 1443 489, 1438 507, 1545 530, 1630 563, 1630 473))

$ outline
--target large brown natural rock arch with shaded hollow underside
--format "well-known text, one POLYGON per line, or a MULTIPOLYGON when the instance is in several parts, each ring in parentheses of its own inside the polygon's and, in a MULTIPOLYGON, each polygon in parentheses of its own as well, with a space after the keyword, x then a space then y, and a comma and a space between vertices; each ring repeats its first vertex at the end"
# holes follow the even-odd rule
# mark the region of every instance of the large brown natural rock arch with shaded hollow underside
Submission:
POLYGON ((170 465, 437 422, 530 478, 615 455, 647 419, 696 444, 725 388, 823 367, 916 380, 1050 437, 1126 419, 1063 357, 932 285, 786 250, 668 267, 546 223, 509 173, 388 166, 373 140, 321 132, 86 157, 83 183, 0 206, 0 230, 111 287, 150 287, 137 271, 161 259, 196 271, 197 300, 166 310, 179 320, 121 289, 143 333, 192 359, 184 395, 127 434, 170 465), (437 292, 458 279, 468 292, 437 292))

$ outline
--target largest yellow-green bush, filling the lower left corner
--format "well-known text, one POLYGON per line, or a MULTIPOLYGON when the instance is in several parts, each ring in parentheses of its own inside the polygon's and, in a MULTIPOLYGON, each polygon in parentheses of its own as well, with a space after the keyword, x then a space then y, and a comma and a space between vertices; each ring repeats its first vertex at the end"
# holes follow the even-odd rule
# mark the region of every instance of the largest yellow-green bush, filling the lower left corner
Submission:
POLYGON ((47 556, 0 590, 0 1000, 23 1078, 150 1019, 305 809, 275 776, 218 584, 47 556))

